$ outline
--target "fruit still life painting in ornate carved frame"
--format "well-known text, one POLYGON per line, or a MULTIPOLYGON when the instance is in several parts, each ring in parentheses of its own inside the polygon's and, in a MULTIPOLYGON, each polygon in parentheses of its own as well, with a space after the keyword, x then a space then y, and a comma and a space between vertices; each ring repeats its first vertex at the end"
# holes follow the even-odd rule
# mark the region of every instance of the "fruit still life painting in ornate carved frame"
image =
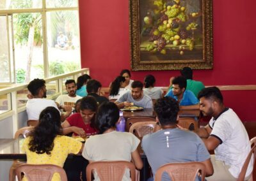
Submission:
POLYGON ((212 0, 129 0, 131 69, 212 69, 212 0))

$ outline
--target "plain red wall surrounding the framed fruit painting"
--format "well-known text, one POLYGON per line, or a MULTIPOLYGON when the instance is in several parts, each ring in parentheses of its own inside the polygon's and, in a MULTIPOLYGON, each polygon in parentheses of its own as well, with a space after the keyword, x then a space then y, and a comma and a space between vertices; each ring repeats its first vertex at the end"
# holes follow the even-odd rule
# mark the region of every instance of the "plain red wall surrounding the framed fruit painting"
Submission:
MULTIPOLYGON (((194 79, 205 85, 256 84, 256 1, 213 1, 214 67, 195 70, 194 79)), ((129 1, 79 1, 81 64, 108 87, 121 69, 130 68, 129 1)), ((168 86, 179 71, 132 71, 133 80, 153 74, 157 86, 168 86)), ((225 91, 225 104, 244 121, 256 121, 256 91, 225 91), (250 99, 245 95, 250 94, 250 99)))

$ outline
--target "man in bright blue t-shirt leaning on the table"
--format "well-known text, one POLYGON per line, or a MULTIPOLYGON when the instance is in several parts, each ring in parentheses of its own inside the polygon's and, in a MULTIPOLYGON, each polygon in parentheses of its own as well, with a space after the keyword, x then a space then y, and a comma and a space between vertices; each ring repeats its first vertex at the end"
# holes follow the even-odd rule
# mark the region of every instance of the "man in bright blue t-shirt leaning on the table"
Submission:
POLYGON ((172 90, 165 96, 172 97, 178 101, 180 109, 199 109, 199 101, 193 92, 186 90, 187 81, 183 76, 177 76, 172 81, 172 90))

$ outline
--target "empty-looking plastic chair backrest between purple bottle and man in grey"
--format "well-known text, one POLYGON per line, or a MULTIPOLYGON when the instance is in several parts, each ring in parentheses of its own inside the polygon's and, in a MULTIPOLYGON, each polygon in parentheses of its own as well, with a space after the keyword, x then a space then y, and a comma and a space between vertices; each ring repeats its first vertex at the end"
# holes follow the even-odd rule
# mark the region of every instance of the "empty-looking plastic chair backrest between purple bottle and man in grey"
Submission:
POLYGON ((130 133, 134 133, 138 138, 142 138, 148 133, 153 133, 154 127, 156 126, 155 121, 135 122, 129 129, 130 133))

